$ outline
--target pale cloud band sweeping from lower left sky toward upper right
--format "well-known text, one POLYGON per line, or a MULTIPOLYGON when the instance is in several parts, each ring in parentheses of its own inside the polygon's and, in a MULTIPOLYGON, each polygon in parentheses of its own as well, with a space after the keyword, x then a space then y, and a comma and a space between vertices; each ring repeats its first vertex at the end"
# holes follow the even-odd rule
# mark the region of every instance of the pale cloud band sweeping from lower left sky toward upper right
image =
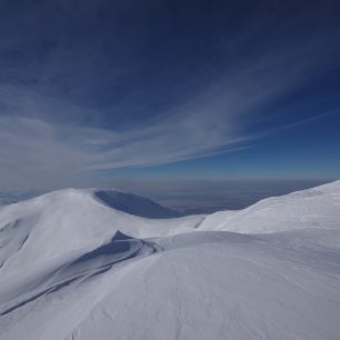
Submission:
POLYGON ((290 50, 283 46, 240 60, 149 126, 120 131, 46 120, 61 111, 77 117, 97 112, 27 87, 2 86, 0 99, 7 108, 0 116, 0 186, 40 187, 62 182, 64 177, 87 181, 97 170, 161 164, 247 144, 266 134, 250 132, 251 124, 263 119, 264 103, 327 70, 316 66, 337 57, 330 41, 332 37, 303 41, 303 46, 297 41, 290 50))

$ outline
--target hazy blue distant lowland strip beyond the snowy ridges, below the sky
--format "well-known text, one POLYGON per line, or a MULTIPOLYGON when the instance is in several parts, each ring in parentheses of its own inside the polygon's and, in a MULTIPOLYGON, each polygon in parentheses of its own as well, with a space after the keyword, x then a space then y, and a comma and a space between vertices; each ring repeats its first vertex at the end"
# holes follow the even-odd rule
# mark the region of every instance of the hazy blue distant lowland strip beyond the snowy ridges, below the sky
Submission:
MULTIPOLYGON (((247 208, 257 201, 309 189, 336 179, 237 179, 117 182, 117 189, 149 198, 182 213, 211 213, 247 208)), ((78 187, 87 188, 87 187, 78 187)), ((60 188, 67 189, 67 188, 60 188)), ((17 202, 57 189, 1 190, 0 204, 17 202)))

